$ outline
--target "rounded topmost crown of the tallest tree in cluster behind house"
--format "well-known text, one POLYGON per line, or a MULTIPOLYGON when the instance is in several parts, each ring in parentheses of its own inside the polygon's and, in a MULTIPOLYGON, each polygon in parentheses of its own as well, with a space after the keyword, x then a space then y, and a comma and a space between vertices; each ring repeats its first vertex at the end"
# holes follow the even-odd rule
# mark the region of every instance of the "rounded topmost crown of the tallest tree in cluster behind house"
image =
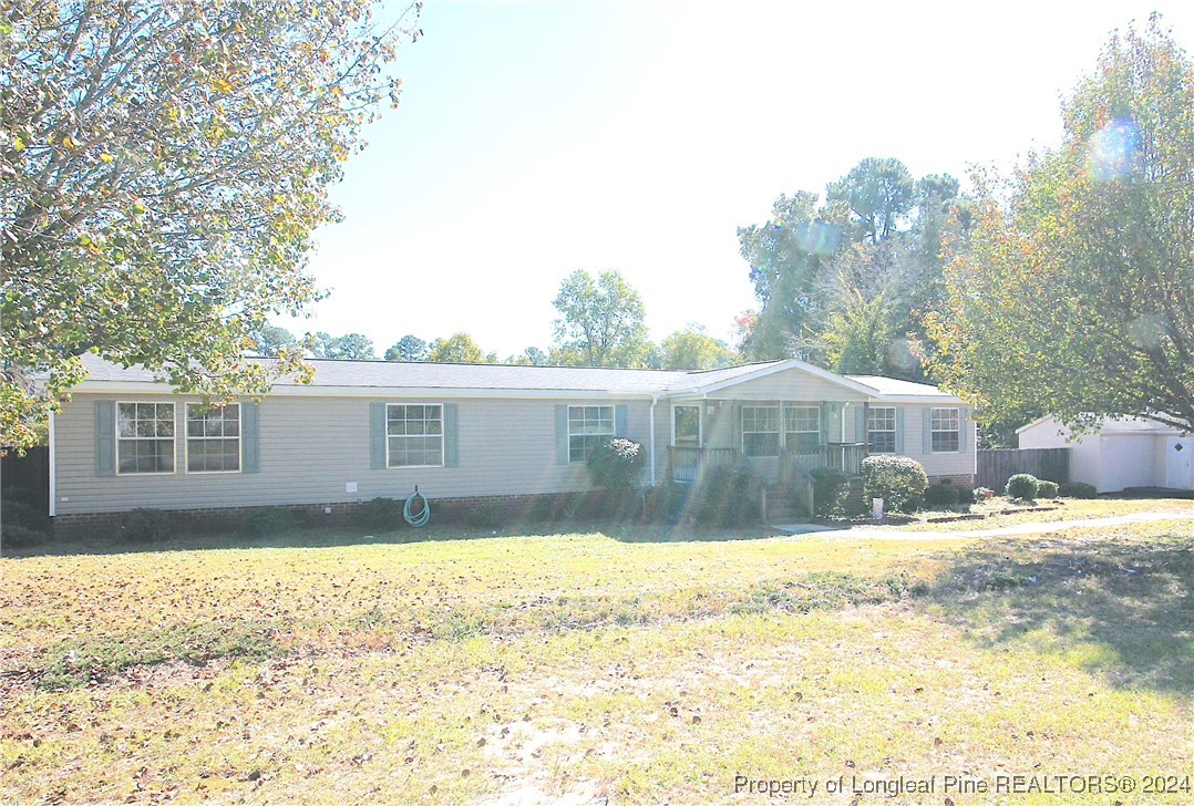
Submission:
POLYGON ((849 207, 861 238, 878 244, 888 238, 897 222, 916 204, 916 181, 896 159, 867 158, 825 189, 827 202, 849 207))

